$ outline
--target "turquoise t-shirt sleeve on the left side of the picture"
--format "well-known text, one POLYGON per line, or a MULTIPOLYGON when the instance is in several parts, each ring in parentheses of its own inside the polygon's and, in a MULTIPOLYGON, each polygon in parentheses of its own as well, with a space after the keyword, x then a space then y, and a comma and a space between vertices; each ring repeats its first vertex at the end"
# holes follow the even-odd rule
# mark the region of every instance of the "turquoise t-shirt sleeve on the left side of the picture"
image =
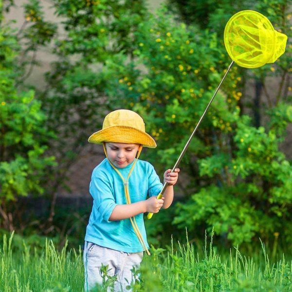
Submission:
POLYGON ((96 174, 94 171, 91 176, 89 191, 101 217, 107 222, 111 222, 109 221, 110 215, 117 203, 108 178, 102 174, 96 174))

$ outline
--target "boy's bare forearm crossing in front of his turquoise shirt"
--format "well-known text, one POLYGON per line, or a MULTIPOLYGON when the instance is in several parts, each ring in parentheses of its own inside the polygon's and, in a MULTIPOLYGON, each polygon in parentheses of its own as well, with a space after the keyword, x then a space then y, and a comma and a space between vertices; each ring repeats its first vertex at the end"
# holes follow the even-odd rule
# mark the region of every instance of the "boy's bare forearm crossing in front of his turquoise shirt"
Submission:
POLYGON ((136 203, 126 205, 116 205, 110 215, 110 221, 123 220, 131 218, 141 213, 145 213, 146 201, 139 201, 136 203))

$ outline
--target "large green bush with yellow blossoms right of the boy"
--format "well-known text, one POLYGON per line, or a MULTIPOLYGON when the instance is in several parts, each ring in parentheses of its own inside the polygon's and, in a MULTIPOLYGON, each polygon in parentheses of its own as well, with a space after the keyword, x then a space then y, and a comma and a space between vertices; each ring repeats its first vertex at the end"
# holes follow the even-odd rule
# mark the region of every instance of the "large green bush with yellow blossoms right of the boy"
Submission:
MULTIPOLYGON (((111 64, 119 80, 115 91, 144 117, 158 143, 147 159, 162 172, 174 165, 230 59, 216 33, 178 23, 165 9, 140 23, 136 40, 132 63, 111 64)), ((275 66, 288 72, 286 59, 255 73, 266 77, 275 66)), ((176 205, 173 224, 195 236, 206 222, 233 244, 258 236, 274 240, 278 233, 291 244, 292 166, 279 150, 291 105, 278 98, 266 111, 265 127, 254 127, 240 111, 239 71, 232 68, 181 163, 186 197, 176 205)))

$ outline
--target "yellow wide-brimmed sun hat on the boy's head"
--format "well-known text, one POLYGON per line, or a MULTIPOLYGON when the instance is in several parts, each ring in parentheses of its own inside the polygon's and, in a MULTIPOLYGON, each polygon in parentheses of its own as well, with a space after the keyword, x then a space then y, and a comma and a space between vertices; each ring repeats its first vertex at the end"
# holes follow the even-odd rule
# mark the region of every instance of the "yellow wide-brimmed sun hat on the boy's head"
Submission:
POLYGON ((110 112, 104 119, 102 129, 93 133, 88 142, 95 144, 115 142, 156 147, 154 139, 145 132, 143 119, 132 110, 110 112))

